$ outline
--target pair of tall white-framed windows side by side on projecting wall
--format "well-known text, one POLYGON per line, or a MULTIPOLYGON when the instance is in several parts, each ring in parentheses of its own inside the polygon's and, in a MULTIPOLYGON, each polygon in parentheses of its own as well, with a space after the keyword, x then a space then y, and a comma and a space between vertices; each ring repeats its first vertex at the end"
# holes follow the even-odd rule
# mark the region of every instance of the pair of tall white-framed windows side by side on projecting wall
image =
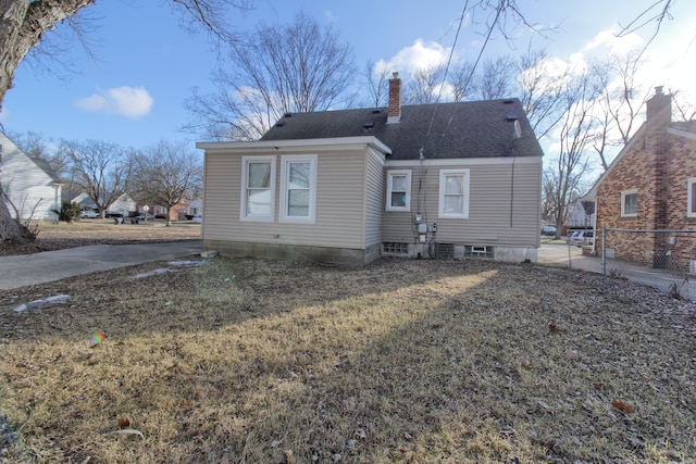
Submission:
MULTIPOLYGON (((244 156, 241 220, 275 220, 276 156, 244 156)), ((316 155, 281 156, 281 222, 314 222, 316 155)))

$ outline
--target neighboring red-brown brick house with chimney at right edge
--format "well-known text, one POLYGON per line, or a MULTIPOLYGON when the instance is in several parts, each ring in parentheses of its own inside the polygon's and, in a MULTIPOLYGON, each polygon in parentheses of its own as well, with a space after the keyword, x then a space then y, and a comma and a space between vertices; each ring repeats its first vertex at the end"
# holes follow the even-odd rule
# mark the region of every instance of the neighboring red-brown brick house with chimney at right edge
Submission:
MULTIPOLYGON (((671 100, 656 88, 646 122, 583 200, 596 201, 597 230, 647 230, 647 244, 643 239, 638 244, 635 235, 608 234, 608 256, 688 269, 696 260, 696 234, 676 239, 655 231, 696 231, 696 121, 672 122, 671 100)), ((600 234, 596 247, 601 254, 600 234)))

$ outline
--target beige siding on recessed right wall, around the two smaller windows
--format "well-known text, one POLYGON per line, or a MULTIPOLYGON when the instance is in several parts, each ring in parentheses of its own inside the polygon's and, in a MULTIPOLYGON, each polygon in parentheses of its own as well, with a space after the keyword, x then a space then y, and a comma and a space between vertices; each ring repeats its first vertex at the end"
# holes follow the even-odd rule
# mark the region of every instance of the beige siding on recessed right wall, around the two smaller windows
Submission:
MULTIPOLYGON (((427 224, 437 223, 435 240, 442 243, 486 244, 501 247, 538 247, 539 199, 542 183, 540 159, 525 159, 514 165, 514 201, 510 225, 510 195, 512 164, 496 160, 460 164, 424 163, 421 210, 427 224), (469 218, 438 217, 440 170, 470 170, 469 218)), ((468 163, 469 161, 469 163, 468 163)), ((402 168, 402 166, 399 166, 402 168)), ((418 213, 420 168, 411 167, 411 212, 385 212, 383 241, 410 242, 413 236, 413 215, 418 213)), ((387 167, 388 170, 388 167, 387 167)))

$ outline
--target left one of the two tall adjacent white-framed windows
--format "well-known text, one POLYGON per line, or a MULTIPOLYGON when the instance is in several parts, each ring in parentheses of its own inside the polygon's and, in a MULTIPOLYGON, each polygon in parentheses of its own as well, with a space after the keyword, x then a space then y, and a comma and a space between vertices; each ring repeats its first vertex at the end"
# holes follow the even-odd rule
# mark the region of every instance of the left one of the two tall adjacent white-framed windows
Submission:
POLYGON ((275 156, 244 156, 241 221, 273 221, 275 156))

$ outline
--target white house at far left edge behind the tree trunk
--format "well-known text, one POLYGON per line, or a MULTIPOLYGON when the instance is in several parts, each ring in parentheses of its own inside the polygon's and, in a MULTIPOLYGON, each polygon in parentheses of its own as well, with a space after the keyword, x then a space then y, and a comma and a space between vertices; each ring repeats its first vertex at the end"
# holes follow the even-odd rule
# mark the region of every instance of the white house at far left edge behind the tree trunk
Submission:
POLYGON ((30 158, 0 131, 0 184, 8 208, 22 221, 58 221, 61 179, 46 160, 30 158))

